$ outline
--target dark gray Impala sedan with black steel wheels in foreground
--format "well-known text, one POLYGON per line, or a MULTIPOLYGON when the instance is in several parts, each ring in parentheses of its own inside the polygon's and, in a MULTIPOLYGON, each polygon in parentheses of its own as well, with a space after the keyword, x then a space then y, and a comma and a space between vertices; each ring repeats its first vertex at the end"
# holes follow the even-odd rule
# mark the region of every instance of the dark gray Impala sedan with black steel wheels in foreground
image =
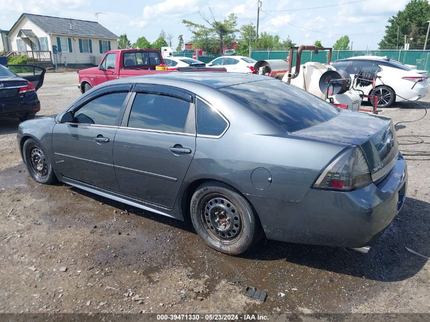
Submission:
MULTIPOLYGON (((389 118, 339 109, 280 80, 183 72, 123 78, 21 123, 41 184, 56 179, 184 220, 212 248, 268 239, 371 246, 406 198, 389 118)), ((365 248, 364 248, 365 249, 365 248)))

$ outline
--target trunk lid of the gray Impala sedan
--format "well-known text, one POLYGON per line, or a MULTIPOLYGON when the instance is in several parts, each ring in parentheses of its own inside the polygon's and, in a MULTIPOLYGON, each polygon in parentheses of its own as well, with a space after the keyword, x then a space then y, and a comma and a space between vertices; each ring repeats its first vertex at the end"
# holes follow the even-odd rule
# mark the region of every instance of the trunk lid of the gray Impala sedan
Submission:
POLYGON ((293 134, 359 145, 373 181, 384 177, 397 158, 398 143, 394 126, 390 119, 377 115, 342 111, 327 122, 293 134))

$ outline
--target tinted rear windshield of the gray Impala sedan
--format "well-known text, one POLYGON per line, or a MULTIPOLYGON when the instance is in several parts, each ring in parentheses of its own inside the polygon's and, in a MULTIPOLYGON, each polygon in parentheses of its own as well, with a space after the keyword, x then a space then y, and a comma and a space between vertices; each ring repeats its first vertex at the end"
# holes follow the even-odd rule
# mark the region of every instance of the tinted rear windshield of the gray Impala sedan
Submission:
POLYGON ((340 112, 339 108, 322 99, 277 79, 242 83, 220 90, 288 132, 328 121, 340 112))

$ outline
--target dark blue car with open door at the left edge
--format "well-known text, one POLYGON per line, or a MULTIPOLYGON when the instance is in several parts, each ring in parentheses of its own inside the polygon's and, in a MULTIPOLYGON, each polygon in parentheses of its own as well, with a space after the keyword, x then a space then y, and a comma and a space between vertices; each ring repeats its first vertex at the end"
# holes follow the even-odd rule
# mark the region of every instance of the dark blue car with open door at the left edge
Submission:
POLYGON ((32 65, 0 65, 0 116, 33 119, 40 111, 36 91, 46 70, 32 65))

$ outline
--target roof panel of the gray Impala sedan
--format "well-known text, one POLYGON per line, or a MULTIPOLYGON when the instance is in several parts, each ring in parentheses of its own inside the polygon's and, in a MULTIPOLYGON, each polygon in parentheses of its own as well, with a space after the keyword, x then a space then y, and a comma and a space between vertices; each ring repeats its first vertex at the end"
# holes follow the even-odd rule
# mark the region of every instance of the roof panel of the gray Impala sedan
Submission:
MULTIPOLYGON (((260 80, 270 80, 273 78, 250 74, 250 73, 227 73, 227 72, 170 72, 170 73, 159 73, 152 75, 135 76, 133 79, 165 79, 170 81, 185 81, 199 83, 210 87, 220 89, 221 87, 227 87, 242 83, 248 83, 260 80)), ((123 78, 124 79, 124 78, 123 78)), ((126 78, 125 78, 126 79, 126 78)))

